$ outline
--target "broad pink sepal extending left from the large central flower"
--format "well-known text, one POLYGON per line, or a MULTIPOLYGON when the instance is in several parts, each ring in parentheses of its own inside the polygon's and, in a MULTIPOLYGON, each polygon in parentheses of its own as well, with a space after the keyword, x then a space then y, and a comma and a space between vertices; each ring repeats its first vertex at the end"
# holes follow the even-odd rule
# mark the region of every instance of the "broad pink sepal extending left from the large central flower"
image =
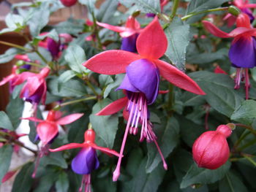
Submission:
POLYGON ((140 55, 125 50, 107 50, 94 55, 83 66, 100 74, 119 74, 126 72, 127 66, 140 59, 140 55))

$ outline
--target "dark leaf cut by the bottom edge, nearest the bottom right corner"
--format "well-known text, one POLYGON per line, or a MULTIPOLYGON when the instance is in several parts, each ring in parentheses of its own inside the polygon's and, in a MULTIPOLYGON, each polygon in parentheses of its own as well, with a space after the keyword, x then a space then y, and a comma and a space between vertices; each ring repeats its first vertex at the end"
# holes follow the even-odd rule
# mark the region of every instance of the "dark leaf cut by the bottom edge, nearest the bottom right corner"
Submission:
POLYGON ((247 192, 247 188, 243 181, 233 174, 227 172, 225 177, 219 181, 219 192, 247 192))

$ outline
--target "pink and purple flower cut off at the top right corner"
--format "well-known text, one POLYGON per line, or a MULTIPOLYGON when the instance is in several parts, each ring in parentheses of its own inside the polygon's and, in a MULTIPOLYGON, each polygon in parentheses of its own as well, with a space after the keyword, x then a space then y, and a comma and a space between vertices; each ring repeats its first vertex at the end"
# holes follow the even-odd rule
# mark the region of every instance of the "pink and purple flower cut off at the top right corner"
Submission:
MULTIPOLYGON (((244 12, 246 15, 248 15, 251 23, 253 20, 255 20, 255 17, 252 15, 252 11, 249 8, 256 8, 256 4, 250 4, 248 0, 234 0, 232 4, 238 7, 241 12, 244 12)), ((227 26, 230 27, 236 23, 236 16, 228 13, 224 20, 227 20, 227 26)))

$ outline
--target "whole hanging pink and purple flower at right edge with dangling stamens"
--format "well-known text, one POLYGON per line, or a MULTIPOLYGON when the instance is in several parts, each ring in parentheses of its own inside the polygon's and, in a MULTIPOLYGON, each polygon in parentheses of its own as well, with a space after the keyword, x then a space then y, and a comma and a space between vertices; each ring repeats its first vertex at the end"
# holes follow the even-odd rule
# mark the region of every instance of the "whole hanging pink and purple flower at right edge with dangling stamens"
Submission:
POLYGON ((228 34, 206 20, 203 20, 203 25, 216 37, 234 38, 228 55, 232 66, 236 67, 235 89, 238 89, 241 80, 245 79, 246 99, 248 99, 250 87, 248 69, 255 67, 256 64, 256 28, 252 28, 245 13, 238 15, 237 28, 228 34))

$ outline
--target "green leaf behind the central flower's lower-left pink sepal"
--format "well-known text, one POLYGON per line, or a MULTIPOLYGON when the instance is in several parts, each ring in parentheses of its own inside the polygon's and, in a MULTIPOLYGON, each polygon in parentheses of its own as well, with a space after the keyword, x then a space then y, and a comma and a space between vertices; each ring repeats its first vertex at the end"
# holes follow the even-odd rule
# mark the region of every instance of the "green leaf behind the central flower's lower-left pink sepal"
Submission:
POLYGON ((94 104, 90 115, 90 122, 92 128, 94 128, 97 137, 100 137, 105 142, 105 147, 112 148, 116 138, 116 131, 118 128, 118 116, 117 115, 106 115, 96 116, 95 113, 102 110, 103 107, 110 104, 110 99, 104 99, 94 104))

